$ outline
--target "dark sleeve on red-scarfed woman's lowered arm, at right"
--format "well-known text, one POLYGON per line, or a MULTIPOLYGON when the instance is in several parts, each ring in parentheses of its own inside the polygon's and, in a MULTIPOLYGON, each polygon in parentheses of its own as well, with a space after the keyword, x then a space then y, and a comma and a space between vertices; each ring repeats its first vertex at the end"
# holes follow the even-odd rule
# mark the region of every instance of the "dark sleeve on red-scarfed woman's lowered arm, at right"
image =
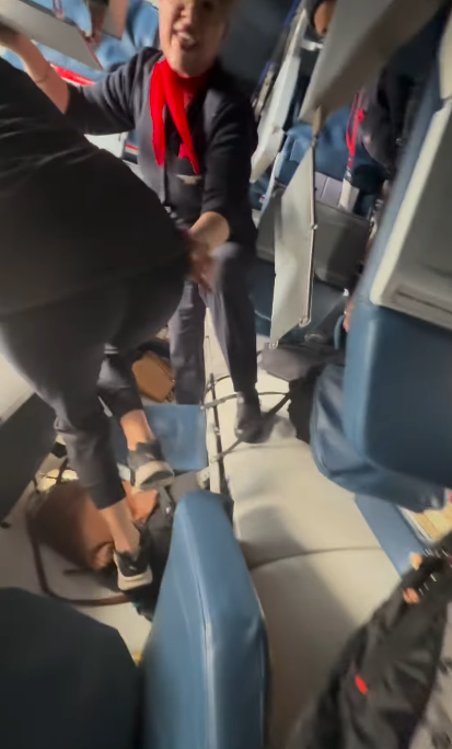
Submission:
POLYGON ((201 214, 220 214, 231 233, 250 205, 251 159, 256 148, 257 130, 248 102, 239 100, 221 107, 206 148, 201 214))

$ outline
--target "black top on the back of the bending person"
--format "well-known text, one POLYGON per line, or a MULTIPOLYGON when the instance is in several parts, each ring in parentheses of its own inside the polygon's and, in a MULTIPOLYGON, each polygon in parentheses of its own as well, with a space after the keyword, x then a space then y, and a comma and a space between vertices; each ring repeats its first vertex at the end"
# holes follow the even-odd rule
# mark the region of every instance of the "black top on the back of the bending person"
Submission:
POLYGON ((155 194, 0 59, 0 320, 184 254, 155 194))

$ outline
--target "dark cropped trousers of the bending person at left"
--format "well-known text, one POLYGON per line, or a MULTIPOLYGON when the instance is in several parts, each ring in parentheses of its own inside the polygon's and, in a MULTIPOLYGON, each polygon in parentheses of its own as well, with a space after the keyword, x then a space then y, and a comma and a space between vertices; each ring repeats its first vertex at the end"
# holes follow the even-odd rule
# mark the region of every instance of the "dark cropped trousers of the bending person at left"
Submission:
POLYGON ((0 353, 55 410, 71 465, 100 509, 125 496, 100 399, 117 419, 142 407, 130 354, 167 323, 185 273, 182 260, 0 318, 0 353))

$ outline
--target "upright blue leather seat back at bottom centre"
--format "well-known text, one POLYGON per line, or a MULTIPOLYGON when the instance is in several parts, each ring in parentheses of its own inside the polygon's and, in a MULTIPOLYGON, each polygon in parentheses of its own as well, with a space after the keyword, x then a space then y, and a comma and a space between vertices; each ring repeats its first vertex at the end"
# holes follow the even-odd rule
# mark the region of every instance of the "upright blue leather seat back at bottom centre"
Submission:
POLYGON ((177 507, 141 668, 143 749, 264 747, 265 625, 218 495, 177 507))

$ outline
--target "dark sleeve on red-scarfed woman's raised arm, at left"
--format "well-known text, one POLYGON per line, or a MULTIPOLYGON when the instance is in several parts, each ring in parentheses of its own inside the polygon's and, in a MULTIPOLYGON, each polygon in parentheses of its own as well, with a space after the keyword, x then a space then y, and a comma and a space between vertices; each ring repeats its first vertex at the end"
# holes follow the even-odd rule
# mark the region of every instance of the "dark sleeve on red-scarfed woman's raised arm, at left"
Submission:
POLYGON ((135 128, 134 102, 142 88, 142 53, 94 85, 71 87, 66 115, 88 135, 113 135, 135 128))

